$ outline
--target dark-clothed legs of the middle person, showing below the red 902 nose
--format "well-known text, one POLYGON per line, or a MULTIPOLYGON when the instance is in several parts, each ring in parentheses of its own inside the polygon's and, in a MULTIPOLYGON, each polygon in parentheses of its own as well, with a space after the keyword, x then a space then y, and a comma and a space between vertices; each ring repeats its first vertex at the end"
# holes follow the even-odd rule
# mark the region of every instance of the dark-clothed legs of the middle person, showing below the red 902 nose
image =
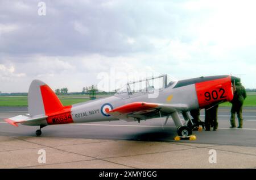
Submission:
POLYGON ((209 109, 205 109, 205 131, 210 131, 211 125, 213 125, 213 131, 218 129, 218 104, 209 109))

